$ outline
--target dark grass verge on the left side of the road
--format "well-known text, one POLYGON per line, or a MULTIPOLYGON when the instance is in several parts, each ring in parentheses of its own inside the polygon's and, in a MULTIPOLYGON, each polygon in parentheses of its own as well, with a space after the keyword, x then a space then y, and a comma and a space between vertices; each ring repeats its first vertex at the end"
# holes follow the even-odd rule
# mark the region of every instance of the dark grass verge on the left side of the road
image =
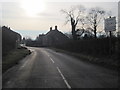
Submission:
POLYGON ((8 52, 6 56, 2 57, 2 73, 7 71, 12 66, 18 64, 21 59, 30 53, 30 50, 25 47, 20 47, 8 52))

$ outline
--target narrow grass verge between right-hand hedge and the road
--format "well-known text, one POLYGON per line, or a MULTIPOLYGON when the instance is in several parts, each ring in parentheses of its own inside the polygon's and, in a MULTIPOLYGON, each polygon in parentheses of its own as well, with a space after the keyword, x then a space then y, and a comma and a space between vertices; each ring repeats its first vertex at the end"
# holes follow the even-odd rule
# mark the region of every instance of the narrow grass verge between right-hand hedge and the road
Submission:
POLYGON ((95 57, 95 56, 82 54, 82 53, 69 52, 69 51, 57 49, 57 48, 51 48, 51 49, 55 50, 56 52, 62 52, 62 53, 71 55, 85 62, 97 64, 113 70, 118 70, 118 60, 111 59, 110 57, 95 57))

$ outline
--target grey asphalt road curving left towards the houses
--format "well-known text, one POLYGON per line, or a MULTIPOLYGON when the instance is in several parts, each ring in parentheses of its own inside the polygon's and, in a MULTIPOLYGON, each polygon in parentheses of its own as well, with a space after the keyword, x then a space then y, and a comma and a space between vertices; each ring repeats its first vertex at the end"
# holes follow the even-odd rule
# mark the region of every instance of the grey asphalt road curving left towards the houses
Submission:
POLYGON ((3 88, 117 88, 118 73, 47 48, 3 74, 3 88))

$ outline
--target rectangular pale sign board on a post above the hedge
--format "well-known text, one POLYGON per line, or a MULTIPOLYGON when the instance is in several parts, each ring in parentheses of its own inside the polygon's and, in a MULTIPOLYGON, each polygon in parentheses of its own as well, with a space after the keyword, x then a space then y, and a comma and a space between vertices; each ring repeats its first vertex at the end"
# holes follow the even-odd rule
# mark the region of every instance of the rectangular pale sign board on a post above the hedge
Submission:
POLYGON ((106 32, 115 31, 116 30, 116 17, 110 17, 110 18, 105 19, 104 25, 105 25, 104 29, 106 32))

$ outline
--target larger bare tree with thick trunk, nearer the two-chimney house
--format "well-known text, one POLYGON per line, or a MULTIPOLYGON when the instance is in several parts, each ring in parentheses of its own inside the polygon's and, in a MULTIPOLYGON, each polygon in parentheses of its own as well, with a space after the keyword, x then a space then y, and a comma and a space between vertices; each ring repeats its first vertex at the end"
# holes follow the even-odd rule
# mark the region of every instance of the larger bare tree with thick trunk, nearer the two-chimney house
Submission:
MULTIPOLYGON (((74 40, 77 40, 77 32, 80 31, 80 29, 76 29, 79 22, 81 22, 83 25, 83 13, 85 11, 85 8, 81 5, 76 6, 74 8, 71 8, 69 11, 67 10, 61 10, 63 14, 66 15, 66 24, 70 22, 71 28, 72 28, 72 37, 74 40)), ((84 29, 82 29, 82 33, 84 32, 84 29)))

